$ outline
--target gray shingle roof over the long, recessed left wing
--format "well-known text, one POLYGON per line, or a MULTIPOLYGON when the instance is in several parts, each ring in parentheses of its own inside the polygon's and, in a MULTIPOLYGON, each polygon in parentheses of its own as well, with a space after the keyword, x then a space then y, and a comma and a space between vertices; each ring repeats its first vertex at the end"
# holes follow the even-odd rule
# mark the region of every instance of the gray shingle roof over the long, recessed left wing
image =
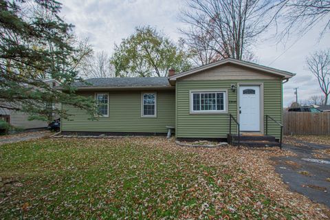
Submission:
POLYGON ((85 83, 76 82, 74 87, 169 87, 166 77, 89 78, 85 83))

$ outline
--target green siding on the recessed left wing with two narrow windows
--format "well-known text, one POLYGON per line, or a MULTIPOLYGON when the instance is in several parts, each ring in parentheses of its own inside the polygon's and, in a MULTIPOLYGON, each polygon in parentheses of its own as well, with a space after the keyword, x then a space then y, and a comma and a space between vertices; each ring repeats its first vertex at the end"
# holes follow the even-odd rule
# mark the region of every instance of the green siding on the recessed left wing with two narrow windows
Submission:
POLYGON ((142 91, 102 92, 109 92, 109 118, 91 121, 85 111, 66 105, 63 109, 72 116, 63 120, 62 131, 166 133, 165 126, 175 125, 175 91, 157 91, 157 118, 141 117, 142 91))

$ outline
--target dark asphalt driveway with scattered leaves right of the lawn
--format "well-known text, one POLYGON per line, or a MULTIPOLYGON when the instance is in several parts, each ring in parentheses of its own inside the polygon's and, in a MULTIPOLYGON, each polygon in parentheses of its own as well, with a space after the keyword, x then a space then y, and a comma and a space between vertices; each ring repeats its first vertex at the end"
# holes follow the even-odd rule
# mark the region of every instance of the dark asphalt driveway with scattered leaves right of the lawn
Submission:
POLYGON ((330 145, 312 144, 294 140, 295 144, 283 144, 283 149, 296 153, 295 157, 273 157, 276 172, 285 183, 312 201, 330 208, 330 145))

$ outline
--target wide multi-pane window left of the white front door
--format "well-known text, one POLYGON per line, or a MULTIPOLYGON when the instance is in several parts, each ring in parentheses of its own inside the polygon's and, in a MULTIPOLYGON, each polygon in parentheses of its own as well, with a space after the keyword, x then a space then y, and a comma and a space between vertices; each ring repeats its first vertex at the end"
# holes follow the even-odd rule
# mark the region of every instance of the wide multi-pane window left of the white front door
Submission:
POLYGON ((191 113, 221 113, 225 108, 225 91, 190 92, 191 113))

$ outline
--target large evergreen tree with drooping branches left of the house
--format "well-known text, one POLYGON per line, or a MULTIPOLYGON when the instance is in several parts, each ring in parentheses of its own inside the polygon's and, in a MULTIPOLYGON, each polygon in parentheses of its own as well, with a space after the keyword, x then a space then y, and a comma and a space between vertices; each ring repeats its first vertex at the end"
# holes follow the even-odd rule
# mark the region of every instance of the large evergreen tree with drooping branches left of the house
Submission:
POLYGON ((94 100, 78 96, 72 83, 76 65, 91 52, 75 45, 74 26, 59 16, 54 0, 0 0, 0 108, 25 111, 31 118, 47 119, 51 113, 67 118, 50 103, 72 104, 95 115, 94 100), (52 78, 65 92, 44 82, 52 78))

